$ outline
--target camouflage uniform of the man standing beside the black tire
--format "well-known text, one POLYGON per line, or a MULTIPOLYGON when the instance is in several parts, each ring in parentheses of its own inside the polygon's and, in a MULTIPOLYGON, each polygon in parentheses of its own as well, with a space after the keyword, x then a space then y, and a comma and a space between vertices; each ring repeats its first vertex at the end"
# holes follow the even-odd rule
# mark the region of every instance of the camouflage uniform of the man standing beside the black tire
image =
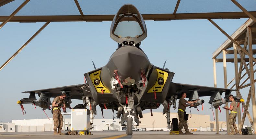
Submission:
POLYGON ((179 123, 179 131, 182 130, 183 126, 184 126, 185 131, 189 131, 188 121, 184 119, 184 112, 186 110, 186 103, 188 103, 188 101, 186 101, 183 98, 180 98, 178 109, 182 110, 183 112, 178 110, 179 121, 180 121, 180 123, 179 123))

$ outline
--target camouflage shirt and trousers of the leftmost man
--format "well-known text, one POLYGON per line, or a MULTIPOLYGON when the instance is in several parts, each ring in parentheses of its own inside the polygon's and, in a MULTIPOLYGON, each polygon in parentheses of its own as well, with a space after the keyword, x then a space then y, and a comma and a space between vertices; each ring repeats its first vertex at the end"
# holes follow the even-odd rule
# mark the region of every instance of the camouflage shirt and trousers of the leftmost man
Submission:
MULTIPOLYGON (((64 104, 64 100, 61 100, 60 97, 56 97, 53 102, 56 102, 56 104, 58 103, 62 103, 64 104)), ((52 103, 53 103, 52 102, 52 103)), ((62 117, 62 114, 61 114, 61 107, 60 106, 57 106, 57 107, 52 107, 53 109, 54 108, 59 108, 59 109, 56 109, 56 110, 53 110, 53 130, 56 131, 57 129, 60 131, 62 129, 62 126, 63 126, 63 117, 62 117)))

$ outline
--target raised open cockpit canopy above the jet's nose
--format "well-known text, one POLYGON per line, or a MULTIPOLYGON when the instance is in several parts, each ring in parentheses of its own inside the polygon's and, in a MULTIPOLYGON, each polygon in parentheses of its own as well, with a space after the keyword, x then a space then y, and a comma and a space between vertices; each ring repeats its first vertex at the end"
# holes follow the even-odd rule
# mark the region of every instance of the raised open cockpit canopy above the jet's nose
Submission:
POLYGON ((110 37, 120 44, 137 44, 147 37, 144 19, 134 5, 126 4, 119 9, 111 24, 110 37))

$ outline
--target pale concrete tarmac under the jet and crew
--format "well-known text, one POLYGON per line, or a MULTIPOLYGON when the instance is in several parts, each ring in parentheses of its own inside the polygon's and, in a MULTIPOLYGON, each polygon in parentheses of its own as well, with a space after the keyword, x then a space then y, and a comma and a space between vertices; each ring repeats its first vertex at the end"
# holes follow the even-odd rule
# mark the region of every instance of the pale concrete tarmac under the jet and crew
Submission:
POLYGON ((133 131, 132 135, 126 135, 126 131, 92 131, 93 135, 52 135, 53 132, 13 132, 0 133, 0 139, 256 139, 256 135, 226 135, 226 132, 193 132, 193 135, 169 135, 166 131, 133 131))

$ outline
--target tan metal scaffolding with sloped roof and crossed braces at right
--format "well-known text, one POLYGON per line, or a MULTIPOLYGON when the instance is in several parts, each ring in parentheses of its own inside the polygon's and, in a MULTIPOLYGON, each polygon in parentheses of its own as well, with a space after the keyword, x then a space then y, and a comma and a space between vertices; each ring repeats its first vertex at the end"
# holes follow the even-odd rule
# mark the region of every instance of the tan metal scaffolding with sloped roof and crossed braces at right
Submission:
MULTIPOLYGON (((256 64, 253 54, 256 53, 256 49, 253 49, 253 45, 256 44, 256 24, 253 19, 247 20, 232 36, 229 36, 223 29, 221 29, 214 21, 208 19, 215 27, 217 27, 224 35, 229 39, 225 41, 214 53, 213 53, 213 68, 214 68, 214 85, 216 87, 216 62, 223 63, 223 72, 224 72, 224 86, 228 88, 233 82, 234 85, 230 87, 233 89, 236 87, 236 95, 242 99, 240 90, 246 87, 250 87, 248 92, 247 101, 242 102, 242 107, 244 113, 241 117, 240 105, 238 106, 238 126, 239 132, 243 127, 245 118, 248 117, 252 128, 254 129, 254 134, 256 134, 256 103, 255 103, 255 86, 254 83, 254 73, 256 70, 253 70, 254 65, 256 64), (242 47, 242 46, 243 47, 242 47), (221 55, 222 53, 222 55, 221 55), (229 56, 227 58, 227 56, 229 56), (231 56, 231 57, 230 57, 231 56), (235 77, 227 84, 227 62, 234 63, 235 77), (254 63, 253 63, 254 62, 254 63), (248 67, 249 65, 249 67, 248 67), (239 66, 239 68, 238 68, 239 66), (245 73, 242 75, 243 70, 245 73), (244 77, 248 76, 247 79, 244 77), (240 83, 242 81, 242 83, 240 83), (249 82, 248 84, 245 84, 249 82), (249 103, 252 103, 252 117, 248 111, 249 103)), ((226 103, 227 106, 227 103, 226 103)), ((216 111, 216 115, 217 115, 216 111)), ((229 132, 228 126, 228 111, 226 111, 227 118, 227 132, 229 132)), ((216 118, 216 123, 217 123, 216 118)), ((216 129, 218 125, 216 125, 216 129)))

